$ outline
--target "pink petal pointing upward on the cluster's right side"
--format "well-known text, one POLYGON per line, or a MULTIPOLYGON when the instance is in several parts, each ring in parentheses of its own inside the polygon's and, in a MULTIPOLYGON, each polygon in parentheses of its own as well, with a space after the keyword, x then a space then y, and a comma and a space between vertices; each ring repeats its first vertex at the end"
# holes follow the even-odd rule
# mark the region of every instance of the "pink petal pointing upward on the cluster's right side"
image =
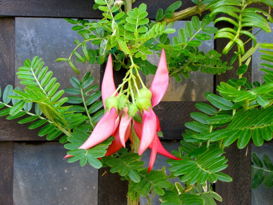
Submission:
POLYGON ((152 92, 152 106, 156 106, 165 95, 169 85, 169 72, 167 68, 165 51, 162 49, 156 74, 150 86, 150 91, 152 92))

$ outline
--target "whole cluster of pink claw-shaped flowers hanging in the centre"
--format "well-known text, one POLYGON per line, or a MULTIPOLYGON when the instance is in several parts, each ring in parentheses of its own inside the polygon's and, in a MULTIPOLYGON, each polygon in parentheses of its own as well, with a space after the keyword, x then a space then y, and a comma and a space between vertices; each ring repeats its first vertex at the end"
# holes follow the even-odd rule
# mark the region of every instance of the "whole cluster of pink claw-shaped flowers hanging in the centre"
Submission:
MULTIPOLYGON (((125 142, 128 140, 128 138, 130 138, 131 142, 133 143, 133 125, 135 133, 140 139, 138 154, 142 155, 142 153, 148 147, 152 150, 150 155, 148 172, 150 172, 154 165, 156 153, 160 153, 171 159, 179 159, 167 152, 166 149, 162 146, 157 134, 157 132, 161 131, 159 120, 152 109, 162 100, 164 94, 166 93, 168 84, 169 73, 167 69, 166 56, 164 50, 162 50, 156 74, 150 86, 150 91, 148 91, 152 94, 151 99, 147 97, 141 98, 141 96, 138 96, 140 100, 138 103, 138 99, 136 100, 137 106, 135 106, 138 108, 138 110, 137 113, 133 114, 128 111, 130 110, 130 106, 129 109, 128 107, 118 109, 118 106, 113 106, 111 105, 111 103, 110 106, 107 106, 107 99, 109 99, 111 96, 113 98, 113 94, 116 91, 113 79, 112 58, 111 55, 109 55, 104 78, 102 81, 102 101, 104 104, 104 108, 107 109, 107 111, 100 119, 98 124, 95 126, 90 137, 86 140, 84 144, 79 147, 79 149, 90 149, 91 147, 94 147, 95 145, 106 140, 109 136, 113 135, 115 139, 112 141, 112 144, 109 145, 105 154, 106 156, 112 155, 113 153, 117 152, 122 146, 125 147, 125 142), (149 103, 145 104, 146 101, 149 103), (144 102, 144 104, 142 102, 144 102), (133 120, 134 114, 141 115, 142 123, 133 120)), ((117 97, 118 94, 116 93, 115 96, 117 97)), ((65 157, 70 157, 70 155, 66 155, 65 157)))

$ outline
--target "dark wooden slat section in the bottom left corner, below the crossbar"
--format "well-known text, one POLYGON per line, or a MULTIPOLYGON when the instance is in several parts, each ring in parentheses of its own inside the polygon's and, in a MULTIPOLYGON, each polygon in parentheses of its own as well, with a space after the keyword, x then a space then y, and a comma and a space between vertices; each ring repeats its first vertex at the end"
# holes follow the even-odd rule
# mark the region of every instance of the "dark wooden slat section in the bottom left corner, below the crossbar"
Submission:
POLYGON ((0 142, 0 204, 13 204, 14 142, 0 142))

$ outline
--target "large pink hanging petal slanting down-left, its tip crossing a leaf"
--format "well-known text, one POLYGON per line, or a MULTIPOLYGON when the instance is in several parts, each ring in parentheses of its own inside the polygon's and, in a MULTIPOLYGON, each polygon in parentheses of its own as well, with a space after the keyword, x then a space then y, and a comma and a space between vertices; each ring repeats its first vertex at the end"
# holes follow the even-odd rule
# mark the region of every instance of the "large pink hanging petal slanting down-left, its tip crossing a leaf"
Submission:
MULTIPOLYGON (((94 147, 95 145, 106 140, 117 129, 118 122, 119 116, 117 115, 116 108, 111 108, 110 112, 107 110, 107 112, 95 126, 89 138, 78 149, 90 149, 91 147, 94 147)), ((71 155, 66 155, 65 158, 67 157, 71 157, 71 155)))

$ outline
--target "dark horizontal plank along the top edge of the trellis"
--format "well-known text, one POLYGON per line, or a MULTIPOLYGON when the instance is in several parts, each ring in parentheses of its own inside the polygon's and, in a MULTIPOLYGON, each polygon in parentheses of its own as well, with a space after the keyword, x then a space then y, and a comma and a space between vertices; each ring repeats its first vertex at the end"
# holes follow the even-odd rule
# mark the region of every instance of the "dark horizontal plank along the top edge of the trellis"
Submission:
MULTIPOLYGON (((147 4, 148 18, 155 19, 156 12, 159 8, 164 11, 169 5, 176 0, 138 0, 133 3, 133 8, 138 7, 141 3, 147 4)), ((2 0, 0 1, 0 16, 13 17, 53 17, 53 18, 86 18, 100 19, 102 11, 93 9, 94 0, 2 0)), ((183 10, 192 7, 194 4, 191 1, 182 1, 182 6, 177 10, 183 10)))

